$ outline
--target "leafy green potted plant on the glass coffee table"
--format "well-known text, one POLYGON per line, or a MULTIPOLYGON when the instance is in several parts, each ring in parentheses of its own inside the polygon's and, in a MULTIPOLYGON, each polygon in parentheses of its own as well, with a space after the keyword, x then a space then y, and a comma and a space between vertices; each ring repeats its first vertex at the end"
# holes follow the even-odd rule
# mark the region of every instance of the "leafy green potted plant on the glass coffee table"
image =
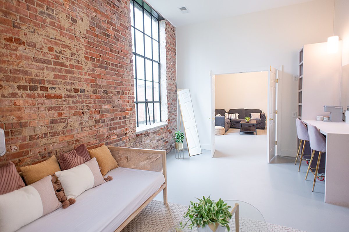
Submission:
POLYGON ((184 217, 188 218, 187 222, 180 225, 184 228, 188 222, 188 227, 198 227, 199 232, 224 232, 225 229, 230 231, 229 220, 232 217, 230 206, 223 200, 213 201, 210 197, 203 196, 198 199, 199 202, 190 202, 188 211, 184 217))

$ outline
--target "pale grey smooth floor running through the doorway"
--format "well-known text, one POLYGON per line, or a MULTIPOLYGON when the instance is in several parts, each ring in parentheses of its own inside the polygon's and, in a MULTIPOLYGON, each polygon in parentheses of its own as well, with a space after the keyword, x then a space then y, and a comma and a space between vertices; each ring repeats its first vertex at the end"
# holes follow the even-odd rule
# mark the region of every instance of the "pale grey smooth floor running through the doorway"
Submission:
MULTIPOLYGON (((313 175, 305 181, 306 164, 298 173, 294 158, 275 157, 267 163, 266 130, 239 135, 229 129, 216 136, 216 153, 209 150, 185 159, 167 155, 169 202, 188 205, 195 197, 241 200, 254 205, 266 222, 309 232, 348 232, 349 208, 324 202, 324 182, 313 175)), ((338 180, 340 181, 340 180, 338 180)), ((348 193, 349 194, 349 193, 348 193)), ((159 194, 155 200, 162 200, 159 194)))

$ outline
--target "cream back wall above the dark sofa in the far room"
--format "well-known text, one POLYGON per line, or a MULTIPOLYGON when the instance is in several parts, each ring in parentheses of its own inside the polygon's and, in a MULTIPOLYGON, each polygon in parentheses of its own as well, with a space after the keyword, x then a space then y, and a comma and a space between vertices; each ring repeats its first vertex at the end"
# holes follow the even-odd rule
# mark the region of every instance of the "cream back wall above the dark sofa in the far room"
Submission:
MULTIPOLYGON (((216 109, 268 110, 268 72, 215 75, 216 109)), ((222 115, 224 116, 224 115, 222 115)))

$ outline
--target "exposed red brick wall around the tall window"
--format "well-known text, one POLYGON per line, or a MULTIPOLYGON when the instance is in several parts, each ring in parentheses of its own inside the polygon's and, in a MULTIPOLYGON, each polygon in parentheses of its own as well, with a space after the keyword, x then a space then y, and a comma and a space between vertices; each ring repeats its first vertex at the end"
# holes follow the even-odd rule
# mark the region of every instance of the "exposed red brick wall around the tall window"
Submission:
POLYGON ((166 22, 168 125, 137 134, 129 1, 0 1, 0 127, 17 166, 113 144, 173 149, 175 28, 166 22))

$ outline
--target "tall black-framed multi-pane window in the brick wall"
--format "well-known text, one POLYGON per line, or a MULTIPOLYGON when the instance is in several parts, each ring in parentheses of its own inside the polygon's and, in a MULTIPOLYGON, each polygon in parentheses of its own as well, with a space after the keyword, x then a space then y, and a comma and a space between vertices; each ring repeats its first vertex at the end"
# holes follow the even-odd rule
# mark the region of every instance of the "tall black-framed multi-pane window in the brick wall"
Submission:
MULTIPOLYGON (((137 127, 161 121, 159 20, 131 0, 131 27, 137 127)), ((149 8, 149 6, 147 7, 149 8)))

